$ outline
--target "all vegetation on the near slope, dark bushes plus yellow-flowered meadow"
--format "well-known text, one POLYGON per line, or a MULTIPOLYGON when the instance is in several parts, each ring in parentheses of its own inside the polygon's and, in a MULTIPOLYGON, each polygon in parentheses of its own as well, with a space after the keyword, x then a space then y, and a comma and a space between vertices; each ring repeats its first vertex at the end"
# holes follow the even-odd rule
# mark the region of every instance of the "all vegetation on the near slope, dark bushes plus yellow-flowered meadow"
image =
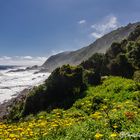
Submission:
POLYGON ((13 104, 1 139, 133 139, 140 133, 140 26, 79 66, 55 69, 13 104), (120 76, 120 77, 111 77, 120 76), (129 79, 125 79, 129 78, 129 79), (132 80, 134 79, 134 80, 132 80))

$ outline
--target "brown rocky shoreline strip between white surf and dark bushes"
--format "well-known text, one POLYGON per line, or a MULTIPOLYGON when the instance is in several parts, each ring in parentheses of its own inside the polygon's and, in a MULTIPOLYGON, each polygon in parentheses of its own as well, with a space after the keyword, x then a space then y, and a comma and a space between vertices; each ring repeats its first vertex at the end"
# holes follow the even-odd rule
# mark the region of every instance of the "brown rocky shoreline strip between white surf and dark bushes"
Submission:
POLYGON ((10 100, 5 101, 4 103, 0 104, 0 121, 6 118, 6 116, 9 114, 9 111, 12 105, 14 105, 15 103, 21 100, 25 100, 26 96, 28 95, 31 89, 32 88, 24 89, 23 91, 19 93, 18 96, 11 98, 10 100))

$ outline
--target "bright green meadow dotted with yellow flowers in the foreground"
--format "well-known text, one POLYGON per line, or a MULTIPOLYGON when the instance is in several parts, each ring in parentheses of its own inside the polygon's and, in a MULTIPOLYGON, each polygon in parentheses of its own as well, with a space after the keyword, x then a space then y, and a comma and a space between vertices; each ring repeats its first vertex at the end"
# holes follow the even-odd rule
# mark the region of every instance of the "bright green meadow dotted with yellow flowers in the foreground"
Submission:
POLYGON ((140 84, 108 77, 85 91, 68 110, 30 115, 16 123, 0 123, 2 140, 131 140, 140 134, 140 84), (129 135, 128 135, 128 134, 129 135), (123 135, 127 134, 127 135, 123 135), (134 138, 132 134, 135 134, 134 138))

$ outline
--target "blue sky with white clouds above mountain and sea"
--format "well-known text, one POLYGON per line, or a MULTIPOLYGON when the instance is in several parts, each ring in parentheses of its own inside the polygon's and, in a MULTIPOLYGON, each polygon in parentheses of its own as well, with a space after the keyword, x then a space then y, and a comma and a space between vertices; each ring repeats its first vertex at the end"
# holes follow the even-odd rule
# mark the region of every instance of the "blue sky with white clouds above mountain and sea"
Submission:
POLYGON ((0 0, 0 65, 41 65, 140 21, 140 0, 0 0))

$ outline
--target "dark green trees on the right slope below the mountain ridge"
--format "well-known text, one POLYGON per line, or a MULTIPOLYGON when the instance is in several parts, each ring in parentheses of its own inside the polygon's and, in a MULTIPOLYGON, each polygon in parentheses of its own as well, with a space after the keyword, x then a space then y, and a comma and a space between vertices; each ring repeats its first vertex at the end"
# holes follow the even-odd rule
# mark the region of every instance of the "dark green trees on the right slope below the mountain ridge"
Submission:
POLYGON ((105 54, 96 53, 87 61, 82 62, 81 66, 84 69, 93 69, 102 76, 114 75, 138 79, 140 70, 140 26, 137 26, 128 39, 124 39, 120 43, 112 43, 105 54))

